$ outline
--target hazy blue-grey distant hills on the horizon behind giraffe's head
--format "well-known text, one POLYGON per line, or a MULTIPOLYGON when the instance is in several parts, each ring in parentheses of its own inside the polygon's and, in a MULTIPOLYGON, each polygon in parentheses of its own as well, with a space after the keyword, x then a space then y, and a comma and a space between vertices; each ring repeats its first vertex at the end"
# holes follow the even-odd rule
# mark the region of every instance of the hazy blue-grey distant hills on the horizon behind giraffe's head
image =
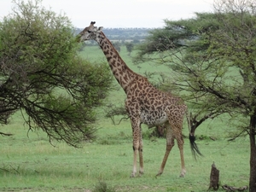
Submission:
MULTIPOLYGON (((84 29, 76 29, 78 34, 84 29)), ((152 28, 103 28, 103 32, 110 40, 143 41, 152 28)))

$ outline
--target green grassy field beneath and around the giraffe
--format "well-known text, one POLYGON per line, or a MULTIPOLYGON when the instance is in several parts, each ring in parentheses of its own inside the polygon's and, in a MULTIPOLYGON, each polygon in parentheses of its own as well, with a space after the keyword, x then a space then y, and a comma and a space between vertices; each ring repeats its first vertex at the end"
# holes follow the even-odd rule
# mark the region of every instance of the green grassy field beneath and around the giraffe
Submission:
MULTIPOLYGON (((90 61, 104 61, 97 46, 86 48, 81 55, 90 61)), ((164 67, 132 65, 125 47, 121 56, 137 73, 167 73, 164 67)), ((123 90, 113 91, 109 97, 119 103, 124 99, 123 90)), ((84 148, 72 148, 65 143, 50 145, 44 132, 27 133, 20 113, 16 113, 9 125, 0 127, 0 131, 14 133, 11 137, 1 137, 0 191, 207 191, 213 161, 220 171, 221 184, 248 185, 248 138, 228 142, 227 136, 233 128, 225 123, 224 117, 207 121, 198 128, 196 135, 201 139, 197 143, 204 157, 193 159, 189 139, 185 138, 187 174, 183 178, 178 177, 181 167, 177 145, 172 148, 164 173, 155 177, 165 154, 166 140, 148 137, 147 126, 143 126, 144 175, 130 178, 133 158, 130 122, 123 120, 120 125, 113 125, 110 119, 102 117, 100 113, 96 141, 84 143, 84 148), (97 190, 102 186, 100 183, 107 184, 108 190, 97 190)), ((188 134, 184 125, 183 135, 188 134)))

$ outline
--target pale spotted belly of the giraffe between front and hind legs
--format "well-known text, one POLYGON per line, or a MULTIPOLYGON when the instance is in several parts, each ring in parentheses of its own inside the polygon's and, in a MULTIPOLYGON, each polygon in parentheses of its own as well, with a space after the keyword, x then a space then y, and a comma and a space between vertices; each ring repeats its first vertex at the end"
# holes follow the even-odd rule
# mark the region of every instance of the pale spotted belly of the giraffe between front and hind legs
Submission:
POLYGON ((141 122, 148 126, 162 125, 167 121, 166 112, 151 112, 142 111, 141 122))

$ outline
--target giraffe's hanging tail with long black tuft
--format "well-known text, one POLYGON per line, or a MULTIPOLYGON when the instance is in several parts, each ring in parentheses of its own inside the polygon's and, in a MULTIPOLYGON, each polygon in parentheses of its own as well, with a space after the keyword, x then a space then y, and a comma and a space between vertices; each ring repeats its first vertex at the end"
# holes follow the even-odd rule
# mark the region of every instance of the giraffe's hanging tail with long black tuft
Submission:
POLYGON ((191 152, 196 160, 196 157, 198 155, 203 156, 197 146, 197 144, 195 143, 195 129, 191 129, 191 120, 190 120, 190 116, 189 116, 189 111, 186 111, 186 118, 188 120, 188 126, 189 126, 189 142, 190 142, 190 148, 191 148, 191 152))

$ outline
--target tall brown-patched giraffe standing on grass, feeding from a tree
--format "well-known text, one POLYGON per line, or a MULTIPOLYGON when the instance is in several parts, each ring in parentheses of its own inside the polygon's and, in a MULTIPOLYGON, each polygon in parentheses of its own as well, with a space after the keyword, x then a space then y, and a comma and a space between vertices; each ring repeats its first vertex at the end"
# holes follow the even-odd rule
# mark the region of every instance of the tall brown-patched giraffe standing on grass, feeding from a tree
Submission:
POLYGON ((108 60, 113 76, 120 86, 125 90, 125 108, 131 120, 133 137, 133 168, 131 177, 137 176, 137 155, 139 157, 139 175, 143 174, 143 136, 141 124, 148 126, 165 125, 166 127, 166 154, 160 165, 160 170, 156 176, 160 176, 166 166, 166 160, 172 147, 174 139, 181 158, 180 177, 184 177, 186 170, 183 157, 183 116, 187 111, 187 106, 181 98, 172 96, 154 88, 148 79, 133 72, 125 61, 119 56, 113 44, 102 32, 102 27, 94 26, 96 22, 91 21, 90 26, 84 28, 79 33, 79 41, 90 39, 96 40, 108 60))

